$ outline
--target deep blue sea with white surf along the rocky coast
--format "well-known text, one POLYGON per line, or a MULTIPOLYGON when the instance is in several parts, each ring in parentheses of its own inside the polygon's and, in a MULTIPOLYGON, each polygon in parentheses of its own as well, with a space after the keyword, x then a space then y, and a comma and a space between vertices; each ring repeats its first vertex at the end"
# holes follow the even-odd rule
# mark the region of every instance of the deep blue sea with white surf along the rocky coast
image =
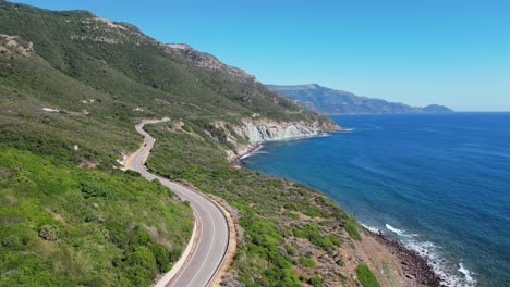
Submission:
POLYGON ((342 115, 246 166, 317 188, 448 286, 510 286, 510 113, 342 115))

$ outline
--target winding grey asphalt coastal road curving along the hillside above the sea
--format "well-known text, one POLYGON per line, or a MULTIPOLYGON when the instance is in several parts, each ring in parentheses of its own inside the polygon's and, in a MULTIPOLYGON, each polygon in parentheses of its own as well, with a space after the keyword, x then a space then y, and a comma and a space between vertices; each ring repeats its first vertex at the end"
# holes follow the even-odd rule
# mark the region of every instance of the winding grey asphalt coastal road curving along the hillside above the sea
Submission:
POLYGON ((172 275, 168 274, 169 276, 158 282, 157 285, 175 287, 209 286, 227 254, 230 236, 229 225, 221 210, 210 200, 185 186, 147 171, 145 160, 154 147, 155 139, 144 130, 144 125, 158 122, 162 121, 144 121, 142 124, 136 125, 136 130, 145 137, 144 145, 131 155, 130 163, 126 166, 138 172, 148 180, 158 179, 181 199, 189 201, 194 211, 195 224, 197 225, 195 244, 187 258, 182 260, 183 264, 181 266, 175 264, 173 269, 178 270, 172 269, 169 272, 172 275))

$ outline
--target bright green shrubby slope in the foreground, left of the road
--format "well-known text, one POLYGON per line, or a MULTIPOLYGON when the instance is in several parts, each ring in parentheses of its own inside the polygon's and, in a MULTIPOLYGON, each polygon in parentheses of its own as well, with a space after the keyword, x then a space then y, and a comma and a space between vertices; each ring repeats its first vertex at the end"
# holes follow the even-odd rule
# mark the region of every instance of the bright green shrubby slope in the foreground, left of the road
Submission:
POLYGON ((1 286, 147 286, 193 228, 156 182, 3 146, 0 190, 1 286))

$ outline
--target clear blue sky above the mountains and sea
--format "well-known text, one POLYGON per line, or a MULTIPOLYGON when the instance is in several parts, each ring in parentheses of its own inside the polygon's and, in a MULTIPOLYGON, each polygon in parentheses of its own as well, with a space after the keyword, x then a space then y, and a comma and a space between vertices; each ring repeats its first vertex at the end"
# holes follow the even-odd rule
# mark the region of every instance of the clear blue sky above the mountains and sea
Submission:
POLYGON ((510 111, 510 1, 25 0, 185 42, 268 84, 510 111))

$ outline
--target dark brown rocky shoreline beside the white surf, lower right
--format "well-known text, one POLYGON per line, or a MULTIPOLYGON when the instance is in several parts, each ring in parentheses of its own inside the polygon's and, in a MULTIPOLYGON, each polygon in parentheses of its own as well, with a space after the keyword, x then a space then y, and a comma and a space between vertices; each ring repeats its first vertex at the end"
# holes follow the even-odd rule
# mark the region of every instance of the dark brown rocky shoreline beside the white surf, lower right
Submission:
POLYGON ((406 287, 440 287, 441 279, 434 272, 427 260, 416 251, 410 250, 401 242, 386 236, 382 232, 372 232, 376 240, 388 248, 399 260, 402 267, 400 286, 406 287))

